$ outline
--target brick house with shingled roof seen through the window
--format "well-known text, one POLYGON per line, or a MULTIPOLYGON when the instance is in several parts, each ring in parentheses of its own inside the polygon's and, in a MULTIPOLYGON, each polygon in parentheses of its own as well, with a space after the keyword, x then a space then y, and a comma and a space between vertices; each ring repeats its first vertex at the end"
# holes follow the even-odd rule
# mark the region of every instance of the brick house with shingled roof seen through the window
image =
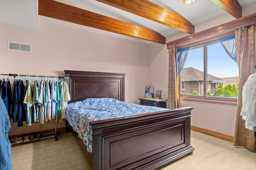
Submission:
MULTIPOLYGON (((180 79, 181 94, 192 95, 192 92, 195 90, 200 96, 204 95, 204 72, 192 67, 183 68, 180 79)), ((214 94, 219 84, 223 86, 226 82, 224 79, 210 74, 207 74, 207 80, 207 92, 210 92, 211 95, 214 94)))

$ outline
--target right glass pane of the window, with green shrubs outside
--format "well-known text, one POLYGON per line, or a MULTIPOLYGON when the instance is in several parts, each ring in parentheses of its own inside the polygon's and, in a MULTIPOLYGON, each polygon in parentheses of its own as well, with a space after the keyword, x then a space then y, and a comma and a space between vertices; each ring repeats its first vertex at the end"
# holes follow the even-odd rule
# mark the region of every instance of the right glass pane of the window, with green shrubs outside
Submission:
POLYGON ((207 96, 237 98, 238 65, 220 42, 207 46, 207 81, 210 82, 207 96))

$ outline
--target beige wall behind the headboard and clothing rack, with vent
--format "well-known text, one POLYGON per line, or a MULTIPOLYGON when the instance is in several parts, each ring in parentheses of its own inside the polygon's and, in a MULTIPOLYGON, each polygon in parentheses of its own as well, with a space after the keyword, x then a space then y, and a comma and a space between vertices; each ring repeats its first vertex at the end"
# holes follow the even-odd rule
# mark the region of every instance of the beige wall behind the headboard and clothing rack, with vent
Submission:
MULTIPOLYGON (((125 101, 139 104, 138 98, 144 97, 149 85, 146 43, 43 16, 39 16, 39 25, 37 30, 0 23, 0 73, 64 76, 64 70, 122 72, 126 73, 125 101), (32 53, 8 51, 8 41, 32 44, 32 53)), ((55 127, 54 122, 45 123, 43 129, 36 123, 11 126, 10 135, 55 127)))

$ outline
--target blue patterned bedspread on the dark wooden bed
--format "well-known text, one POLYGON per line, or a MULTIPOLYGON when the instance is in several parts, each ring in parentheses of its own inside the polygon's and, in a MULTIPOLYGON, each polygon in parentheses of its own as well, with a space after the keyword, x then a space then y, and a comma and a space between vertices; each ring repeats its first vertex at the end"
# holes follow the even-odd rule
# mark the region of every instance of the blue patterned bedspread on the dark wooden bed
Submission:
POLYGON ((88 152, 92 152, 92 129, 89 124, 90 121, 163 110, 167 109, 122 102, 113 98, 89 98, 68 104, 66 108, 66 120, 84 141, 88 152))

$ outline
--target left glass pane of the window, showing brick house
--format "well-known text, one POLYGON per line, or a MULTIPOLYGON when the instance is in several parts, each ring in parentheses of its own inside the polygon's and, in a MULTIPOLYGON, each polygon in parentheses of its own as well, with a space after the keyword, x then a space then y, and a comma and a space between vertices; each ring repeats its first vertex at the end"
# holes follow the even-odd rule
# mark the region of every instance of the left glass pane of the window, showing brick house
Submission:
POLYGON ((184 95, 204 96, 204 49, 203 47, 190 49, 184 68, 180 74, 181 81, 184 81, 184 95))

